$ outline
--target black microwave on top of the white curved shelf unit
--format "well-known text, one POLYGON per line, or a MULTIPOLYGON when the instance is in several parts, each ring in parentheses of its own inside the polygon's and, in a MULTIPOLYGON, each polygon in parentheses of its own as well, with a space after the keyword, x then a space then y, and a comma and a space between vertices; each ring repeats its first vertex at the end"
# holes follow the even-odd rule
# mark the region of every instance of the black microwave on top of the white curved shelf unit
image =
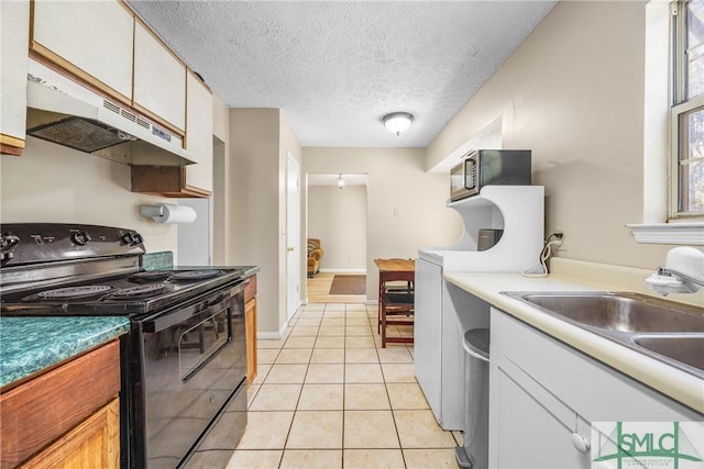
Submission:
POLYGON ((530 186, 529 149, 475 149, 450 171, 450 200, 480 193, 484 186, 530 186))

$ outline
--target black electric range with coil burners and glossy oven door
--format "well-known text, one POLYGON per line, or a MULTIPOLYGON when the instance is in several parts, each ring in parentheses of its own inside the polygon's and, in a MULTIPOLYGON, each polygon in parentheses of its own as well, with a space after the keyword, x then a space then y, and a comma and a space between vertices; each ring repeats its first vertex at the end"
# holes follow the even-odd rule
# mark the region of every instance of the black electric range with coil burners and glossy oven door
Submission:
POLYGON ((0 315, 130 319, 121 466, 224 467, 246 425, 244 288, 256 268, 145 270, 128 228, 2 224, 0 235, 0 315))

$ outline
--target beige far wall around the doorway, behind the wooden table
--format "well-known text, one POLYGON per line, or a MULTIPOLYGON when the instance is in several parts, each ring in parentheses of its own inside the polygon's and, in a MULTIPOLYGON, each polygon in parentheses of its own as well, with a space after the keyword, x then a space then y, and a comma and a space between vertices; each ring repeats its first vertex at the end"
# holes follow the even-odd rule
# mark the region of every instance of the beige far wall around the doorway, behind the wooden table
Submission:
POLYGON ((369 177, 369 299, 376 299, 375 258, 416 258, 419 247, 446 246, 460 238, 460 215, 444 206, 449 176, 425 171, 422 148, 305 147, 302 155, 304 174, 349 172, 369 177))

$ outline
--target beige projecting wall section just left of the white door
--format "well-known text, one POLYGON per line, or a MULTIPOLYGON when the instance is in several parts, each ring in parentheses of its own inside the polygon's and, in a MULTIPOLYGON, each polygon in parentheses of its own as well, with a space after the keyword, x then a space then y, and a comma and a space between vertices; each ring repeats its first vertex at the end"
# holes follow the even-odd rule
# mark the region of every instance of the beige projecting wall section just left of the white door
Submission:
POLYGON ((300 145, 278 109, 230 109, 230 258, 260 267, 257 328, 286 325, 286 155, 300 145))

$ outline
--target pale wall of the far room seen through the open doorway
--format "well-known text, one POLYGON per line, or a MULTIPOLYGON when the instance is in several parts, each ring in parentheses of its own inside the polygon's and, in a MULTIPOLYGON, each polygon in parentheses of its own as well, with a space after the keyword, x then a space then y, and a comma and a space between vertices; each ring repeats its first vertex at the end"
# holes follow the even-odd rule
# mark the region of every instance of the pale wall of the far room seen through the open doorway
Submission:
POLYGON ((366 186, 308 186, 308 237, 320 239, 320 270, 366 270, 366 186))

